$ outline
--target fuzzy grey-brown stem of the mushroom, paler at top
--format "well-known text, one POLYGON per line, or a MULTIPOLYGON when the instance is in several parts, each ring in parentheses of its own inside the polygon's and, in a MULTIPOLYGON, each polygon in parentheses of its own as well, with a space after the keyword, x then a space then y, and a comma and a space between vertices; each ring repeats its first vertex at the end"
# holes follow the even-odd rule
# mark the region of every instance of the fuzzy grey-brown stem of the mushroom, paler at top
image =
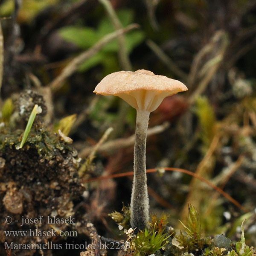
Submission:
POLYGON ((146 176, 146 138, 150 112, 137 109, 134 144, 134 180, 131 193, 131 227, 145 229, 149 220, 149 200, 146 176))

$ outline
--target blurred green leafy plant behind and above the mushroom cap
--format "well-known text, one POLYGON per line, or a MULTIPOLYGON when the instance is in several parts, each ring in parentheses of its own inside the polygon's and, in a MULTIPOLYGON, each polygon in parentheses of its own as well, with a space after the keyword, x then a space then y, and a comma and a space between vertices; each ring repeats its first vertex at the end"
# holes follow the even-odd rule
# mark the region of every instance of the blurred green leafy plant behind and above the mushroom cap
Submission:
MULTIPOLYGON (((119 10, 117 16, 124 27, 131 24, 134 20, 134 12, 130 9, 119 10)), ((67 26, 60 29, 59 33, 66 41, 76 44, 81 49, 88 49, 102 37, 113 31, 114 28, 111 20, 108 16, 105 16, 100 20, 96 29, 86 26, 67 26)), ((127 33, 124 37, 127 53, 130 54, 143 41, 145 36, 142 31, 137 30, 127 33)), ((91 67, 102 64, 105 74, 117 71, 119 69, 117 65, 118 50, 119 43, 117 39, 109 42, 101 51, 81 64, 79 70, 86 71, 91 67)))

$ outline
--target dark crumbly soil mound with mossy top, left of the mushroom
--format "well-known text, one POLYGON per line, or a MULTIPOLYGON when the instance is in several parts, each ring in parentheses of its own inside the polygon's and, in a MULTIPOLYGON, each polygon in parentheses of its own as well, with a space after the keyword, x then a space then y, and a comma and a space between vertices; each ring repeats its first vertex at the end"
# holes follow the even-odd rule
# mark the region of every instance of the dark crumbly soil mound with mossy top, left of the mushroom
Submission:
MULTIPOLYGON (((17 149, 24 130, 2 127, 0 133, 0 219, 1 242, 10 244, 52 241, 51 236, 5 236, 4 231, 74 230, 74 224, 47 224, 47 216, 75 218, 74 201, 84 192, 78 177, 80 161, 77 151, 61 137, 47 129, 38 119, 23 148, 17 149), (42 224, 25 224, 22 218, 44 216, 42 224), (10 216, 12 224, 4 219, 10 216)), ((76 223, 79 219, 76 218, 76 223)), ((58 241, 58 239, 56 240, 58 241)), ((14 250, 17 255, 34 255, 36 250, 14 250)), ((51 255, 51 252, 48 252, 51 255)), ((0 254, 4 255, 3 244, 0 254)), ((48 255, 48 254, 46 254, 48 255)))

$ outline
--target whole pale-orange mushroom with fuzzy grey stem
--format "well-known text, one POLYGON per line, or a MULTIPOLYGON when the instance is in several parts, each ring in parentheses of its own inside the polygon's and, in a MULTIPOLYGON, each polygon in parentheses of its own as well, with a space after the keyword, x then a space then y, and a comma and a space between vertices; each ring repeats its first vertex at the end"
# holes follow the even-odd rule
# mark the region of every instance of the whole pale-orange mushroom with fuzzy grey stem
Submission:
POLYGON ((180 81, 157 76, 148 70, 119 71, 106 76, 93 91, 115 95, 137 110, 134 145, 134 180, 131 193, 131 227, 143 230, 149 220, 145 150, 150 112, 157 109, 166 96, 186 91, 180 81))

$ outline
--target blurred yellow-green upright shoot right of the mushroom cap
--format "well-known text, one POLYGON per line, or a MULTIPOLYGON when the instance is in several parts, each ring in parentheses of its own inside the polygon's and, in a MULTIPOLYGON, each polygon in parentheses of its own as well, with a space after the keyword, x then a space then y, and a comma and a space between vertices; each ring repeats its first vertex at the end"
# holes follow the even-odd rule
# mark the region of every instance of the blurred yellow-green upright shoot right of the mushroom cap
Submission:
POLYGON ((196 103, 196 113, 202 128, 202 140, 204 145, 209 146, 215 135, 215 113, 206 97, 198 97, 196 103))

